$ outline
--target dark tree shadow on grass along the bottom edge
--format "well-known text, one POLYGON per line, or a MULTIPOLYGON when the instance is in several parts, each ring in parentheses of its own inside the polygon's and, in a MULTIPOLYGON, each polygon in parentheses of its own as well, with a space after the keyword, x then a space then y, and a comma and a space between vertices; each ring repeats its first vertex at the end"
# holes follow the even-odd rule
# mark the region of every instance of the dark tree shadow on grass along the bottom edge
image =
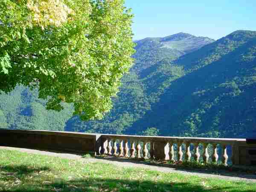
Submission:
MULTIPOLYGON (((26 186, 14 192, 245 192, 235 188, 206 188, 193 183, 152 182, 140 180, 88 178, 81 180, 58 180, 41 186, 26 186)), ((7 191, 6 191, 7 192, 7 191)), ((248 192, 248 191, 246 191, 248 192)))

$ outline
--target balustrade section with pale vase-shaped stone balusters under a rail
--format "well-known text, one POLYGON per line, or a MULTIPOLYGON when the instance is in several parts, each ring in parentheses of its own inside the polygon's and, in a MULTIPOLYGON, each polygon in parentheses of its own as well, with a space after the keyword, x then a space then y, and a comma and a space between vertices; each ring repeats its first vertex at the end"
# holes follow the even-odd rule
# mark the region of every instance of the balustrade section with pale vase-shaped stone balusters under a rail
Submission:
POLYGON ((102 135, 100 154, 182 162, 239 164, 238 142, 244 139, 102 135), (210 149, 210 152, 209 152, 210 149), (229 155, 228 155, 229 151, 229 155), (237 154, 236 154, 237 153, 237 154))

